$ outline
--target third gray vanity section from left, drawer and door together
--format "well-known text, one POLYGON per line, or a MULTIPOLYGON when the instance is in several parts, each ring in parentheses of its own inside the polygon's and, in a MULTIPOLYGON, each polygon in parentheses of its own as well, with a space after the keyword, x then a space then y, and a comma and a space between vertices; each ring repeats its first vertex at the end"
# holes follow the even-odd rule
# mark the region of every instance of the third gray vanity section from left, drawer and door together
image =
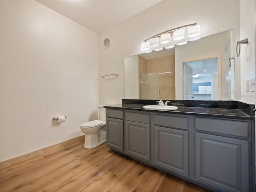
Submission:
POLYGON ((154 122, 155 164, 188 176, 188 118, 155 115, 154 122))

